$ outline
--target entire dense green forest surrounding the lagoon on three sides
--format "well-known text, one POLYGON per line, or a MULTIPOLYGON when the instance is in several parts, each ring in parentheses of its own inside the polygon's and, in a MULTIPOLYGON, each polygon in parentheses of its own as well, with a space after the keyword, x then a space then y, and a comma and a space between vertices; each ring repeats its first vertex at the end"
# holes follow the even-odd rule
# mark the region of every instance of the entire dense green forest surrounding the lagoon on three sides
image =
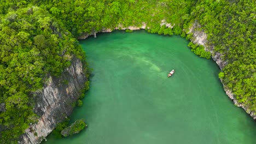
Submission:
MULTIPOLYGON (((71 53, 82 58, 73 36, 143 23, 150 33, 188 39, 189 28, 200 23, 197 29, 208 35, 206 45, 214 46, 213 52, 221 53, 227 63, 220 79, 240 103, 256 111, 255 1, 3 0, 0 14, 0 103, 6 105, 0 113, 0 138, 4 142, 16 140, 29 123, 36 122, 32 92, 42 88, 47 75, 59 75, 70 64, 71 53)), ((189 46, 196 55, 210 58, 203 46, 189 46)))

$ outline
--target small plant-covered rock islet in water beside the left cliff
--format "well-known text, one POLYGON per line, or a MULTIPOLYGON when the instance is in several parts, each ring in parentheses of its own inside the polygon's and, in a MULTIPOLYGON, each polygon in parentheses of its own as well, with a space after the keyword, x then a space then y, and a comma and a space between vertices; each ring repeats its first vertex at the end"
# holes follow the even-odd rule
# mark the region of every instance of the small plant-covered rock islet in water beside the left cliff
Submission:
POLYGON ((83 130, 85 127, 87 127, 87 124, 84 122, 84 119, 78 119, 74 123, 72 123, 69 127, 63 129, 61 131, 61 135, 64 137, 78 134, 81 130, 83 130))

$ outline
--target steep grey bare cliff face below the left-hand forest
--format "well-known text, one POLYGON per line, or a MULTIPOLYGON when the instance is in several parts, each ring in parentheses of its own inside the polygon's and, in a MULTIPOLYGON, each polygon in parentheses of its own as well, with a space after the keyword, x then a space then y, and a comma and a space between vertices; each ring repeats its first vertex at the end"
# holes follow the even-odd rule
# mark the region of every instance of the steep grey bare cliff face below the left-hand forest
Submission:
POLYGON ((77 58, 72 59, 71 66, 60 77, 50 76, 44 88, 34 93, 34 111, 40 116, 39 121, 26 129, 19 143, 40 143, 58 122, 71 115, 72 105, 79 98, 86 81, 83 64, 77 58))

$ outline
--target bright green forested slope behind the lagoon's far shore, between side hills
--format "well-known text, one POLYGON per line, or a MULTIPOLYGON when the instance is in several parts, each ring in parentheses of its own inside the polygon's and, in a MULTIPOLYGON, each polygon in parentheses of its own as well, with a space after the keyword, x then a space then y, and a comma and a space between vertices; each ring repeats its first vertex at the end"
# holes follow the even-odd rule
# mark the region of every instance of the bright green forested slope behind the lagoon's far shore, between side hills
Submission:
MULTIPOLYGON (((82 33, 98 32, 104 28, 119 26, 141 26, 142 22, 154 33, 160 30, 160 21, 175 23, 173 33, 181 34, 184 20, 189 17, 193 1, 32 1, 34 5, 48 10, 78 36, 82 33)), ((164 30, 164 28, 162 28, 164 30)), ((171 28, 168 31, 172 31, 171 28)), ((161 32, 163 33, 163 32, 161 32)))

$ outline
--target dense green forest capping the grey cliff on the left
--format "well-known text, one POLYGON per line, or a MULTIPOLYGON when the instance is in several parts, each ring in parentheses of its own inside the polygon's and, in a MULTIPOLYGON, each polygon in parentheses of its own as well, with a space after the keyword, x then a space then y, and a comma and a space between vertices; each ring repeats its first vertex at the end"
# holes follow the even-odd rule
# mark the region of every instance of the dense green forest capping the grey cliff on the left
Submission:
POLYGON ((62 24, 39 7, 11 11, 0 23, 1 141, 17 140, 37 122, 33 92, 43 88, 49 74, 58 76, 80 55, 78 41, 62 24))

